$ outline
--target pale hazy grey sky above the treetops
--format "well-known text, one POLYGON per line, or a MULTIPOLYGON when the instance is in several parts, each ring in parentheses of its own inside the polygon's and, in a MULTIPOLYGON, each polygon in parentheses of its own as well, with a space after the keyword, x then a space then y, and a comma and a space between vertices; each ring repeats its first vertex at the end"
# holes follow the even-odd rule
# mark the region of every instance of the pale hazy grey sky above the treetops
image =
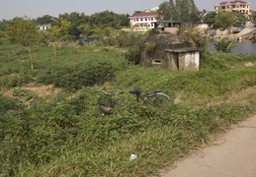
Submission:
MULTIPOLYGON (((59 14, 71 12, 90 16, 106 10, 132 15, 134 11, 152 9, 164 1, 168 0, 0 0, 0 21, 25 16, 36 19, 44 15, 58 18, 59 14)), ((194 0, 200 11, 213 11, 213 6, 222 1, 225 0, 194 0)), ((255 0, 246 2, 256 10, 255 0)))

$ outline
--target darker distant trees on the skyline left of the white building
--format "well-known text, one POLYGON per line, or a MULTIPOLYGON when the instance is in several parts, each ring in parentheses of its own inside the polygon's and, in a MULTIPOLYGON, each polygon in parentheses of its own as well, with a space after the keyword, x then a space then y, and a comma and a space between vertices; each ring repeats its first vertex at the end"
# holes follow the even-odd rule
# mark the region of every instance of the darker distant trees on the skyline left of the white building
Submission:
MULTIPOLYGON (((37 19, 30 19, 32 23, 36 26, 40 25, 50 25, 51 27, 60 26, 60 21, 66 21, 70 24, 67 29, 69 38, 78 39, 79 37, 85 37, 87 35, 93 34, 93 29, 122 29, 122 27, 128 27, 128 14, 116 14, 111 11, 104 11, 100 13, 95 13, 91 16, 86 16, 84 13, 72 12, 70 14, 65 13, 59 15, 58 18, 49 15, 44 15, 37 19), (88 27, 86 31, 82 27, 88 27)), ((8 26, 13 23, 13 20, 2 20, 0 22, 0 30, 8 30, 8 26)), ((29 18, 23 18, 29 19, 29 18)))

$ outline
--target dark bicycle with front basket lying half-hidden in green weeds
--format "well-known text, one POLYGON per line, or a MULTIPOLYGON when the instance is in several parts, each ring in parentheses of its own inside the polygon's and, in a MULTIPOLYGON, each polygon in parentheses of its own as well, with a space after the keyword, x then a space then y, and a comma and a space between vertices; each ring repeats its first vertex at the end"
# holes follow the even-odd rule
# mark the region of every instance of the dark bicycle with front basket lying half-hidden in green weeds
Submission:
MULTIPOLYGON (((131 94, 136 95, 136 101, 138 102, 139 99, 141 99, 141 104, 144 105, 151 105, 153 107, 159 108, 161 110, 164 110, 166 107, 168 107, 169 104, 171 104, 171 97, 163 92, 159 92, 160 89, 155 89, 153 91, 149 91, 145 94, 141 95, 141 88, 132 89, 128 91, 131 94)), ((107 92, 106 89, 102 89, 102 92, 104 92, 108 97, 102 96, 98 99, 98 105, 103 114, 109 115, 113 112, 113 109, 115 108, 115 105, 118 104, 114 98, 112 98, 113 95, 123 94, 123 92, 114 92, 110 93, 107 92)), ((121 104, 120 104, 121 105, 121 104)), ((122 105, 124 106, 124 105, 122 105)))

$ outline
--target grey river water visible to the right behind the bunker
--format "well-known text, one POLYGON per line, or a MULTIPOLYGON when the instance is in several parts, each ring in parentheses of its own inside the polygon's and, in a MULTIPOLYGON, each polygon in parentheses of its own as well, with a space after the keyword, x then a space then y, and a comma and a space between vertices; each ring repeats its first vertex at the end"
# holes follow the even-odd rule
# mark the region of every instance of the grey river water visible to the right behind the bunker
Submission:
MULTIPOLYGON (((217 40, 210 40, 208 45, 209 51, 216 51, 213 47, 217 43, 217 40)), ((256 42, 251 40, 233 41, 231 53, 255 53, 256 54, 256 42)))

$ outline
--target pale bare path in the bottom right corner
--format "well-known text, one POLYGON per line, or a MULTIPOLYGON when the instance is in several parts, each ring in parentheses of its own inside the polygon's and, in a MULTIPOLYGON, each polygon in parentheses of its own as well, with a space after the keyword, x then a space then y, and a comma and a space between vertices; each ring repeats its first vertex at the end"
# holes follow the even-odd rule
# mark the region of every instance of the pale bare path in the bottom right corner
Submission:
POLYGON ((162 177, 255 177, 256 115, 235 126, 162 177))

